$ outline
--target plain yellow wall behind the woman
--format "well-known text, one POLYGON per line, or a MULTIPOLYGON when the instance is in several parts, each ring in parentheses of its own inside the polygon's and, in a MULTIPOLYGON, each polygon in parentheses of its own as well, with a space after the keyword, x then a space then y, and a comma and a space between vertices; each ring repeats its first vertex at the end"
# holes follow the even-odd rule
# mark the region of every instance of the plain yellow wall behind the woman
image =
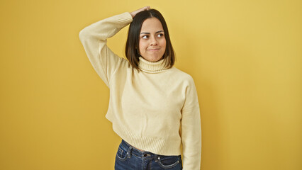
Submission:
MULTIPOLYGON (((203 170, 302 169, 302 1, 1 0, 0 169, 113 169, 121 138, 79 31, 150 5, 194 78, 203 170)), ((108 40, 123 56, 127 29, 108 40)))

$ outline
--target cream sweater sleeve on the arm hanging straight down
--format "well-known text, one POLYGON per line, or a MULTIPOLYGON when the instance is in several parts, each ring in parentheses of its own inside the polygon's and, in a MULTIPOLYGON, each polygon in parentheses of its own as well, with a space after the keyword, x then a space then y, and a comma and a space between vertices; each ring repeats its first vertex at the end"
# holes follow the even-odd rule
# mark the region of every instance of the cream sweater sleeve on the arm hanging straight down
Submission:
POLYGON ((201 117, 194 80, 186 87, 186 100, 181 109, 181 142, 183 145, 183 169, 201 168, 201 117))

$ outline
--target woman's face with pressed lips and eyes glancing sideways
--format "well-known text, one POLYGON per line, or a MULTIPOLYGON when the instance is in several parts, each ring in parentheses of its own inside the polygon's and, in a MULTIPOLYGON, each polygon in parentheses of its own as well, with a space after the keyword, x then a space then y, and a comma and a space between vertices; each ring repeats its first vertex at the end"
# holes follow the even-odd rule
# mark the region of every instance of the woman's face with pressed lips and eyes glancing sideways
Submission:
POLYGON ((157 62, 166 50, 162 23, 157 18, 147 18, 140 30, 140 55, 147 61, 157 62))

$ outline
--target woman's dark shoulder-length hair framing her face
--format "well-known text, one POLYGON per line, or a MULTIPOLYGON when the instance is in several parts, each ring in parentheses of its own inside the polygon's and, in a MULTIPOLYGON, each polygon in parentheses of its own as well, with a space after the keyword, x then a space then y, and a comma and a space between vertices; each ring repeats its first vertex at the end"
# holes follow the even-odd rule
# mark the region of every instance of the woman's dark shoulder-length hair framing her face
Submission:
POLYGON ((130 64, 135 68, 138 68, 138 62, 140 57, 139 52, 139 43, 140 43, 140 30, 142 28, 142 23, 147 18, 157 18, 162 23, 162 28, 164 28, 164 38, 166 39, 166 50, 164 52, 164 56, 162 59, 165 60, 165 66, 171 68, 175 62, 175 55, 174 50, 172 47, 172 43, 169 37, 169 31, 167 27, 166 21, 164 21, 164 17, 162 14, 157 11, 156 9, 150 9, 147 11, 141 11, 137 13, 133 17, 132 23, 130 23, 129 30, 128 30, 128 38, 125 45, 125 56, 127 57, 130 64))

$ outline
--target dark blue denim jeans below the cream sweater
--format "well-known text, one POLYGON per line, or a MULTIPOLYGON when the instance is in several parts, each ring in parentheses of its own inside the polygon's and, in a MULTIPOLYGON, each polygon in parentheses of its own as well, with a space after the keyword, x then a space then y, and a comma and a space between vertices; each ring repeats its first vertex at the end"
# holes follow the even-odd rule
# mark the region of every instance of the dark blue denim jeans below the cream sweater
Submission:
POLYGON ((181 170, 181 155, 164 156, 152 152, 142 152, 122 140, 116 153, 115 170, 181 170))

